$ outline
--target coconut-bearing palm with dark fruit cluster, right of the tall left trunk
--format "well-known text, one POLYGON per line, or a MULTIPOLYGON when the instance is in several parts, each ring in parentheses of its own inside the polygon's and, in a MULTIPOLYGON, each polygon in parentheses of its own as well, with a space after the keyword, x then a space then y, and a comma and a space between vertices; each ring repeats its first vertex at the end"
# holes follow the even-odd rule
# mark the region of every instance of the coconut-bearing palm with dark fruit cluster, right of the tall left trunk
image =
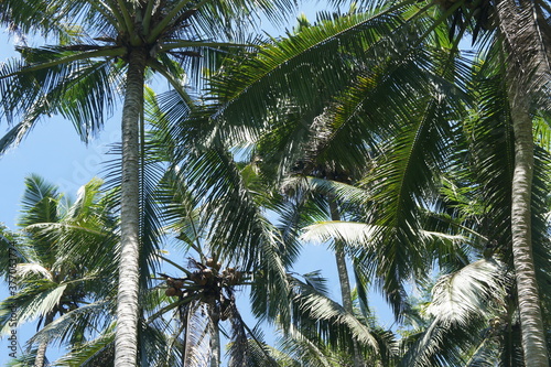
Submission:
MULTIPOLYGON (((154 98, 149 101, 152 106, 156 106, 154 98)), ((163 129, 163 121, 158 120, 155 125, 159 127, 155 131, 156 137, 162 137, 166 131, 163 129)), ((170 140, 169 137, 165 138, 170 140)), ((257 207, 259 203, 250 201, 251 193, 247 187, 248 180, 245 179, 247 170, 239 171, 238 164, 224 151, 217 152, 222 156, 217 154, 212 156, 212 153, 207 150, 195 159, 187 158, 187 162, 197 164, 197 169, 195 165, 188 168, 190 171, 175 169, 164 176, 165 191, 161 192, 158 198, 164 204, 163 219, 168 225, 166 231, 169 235, 174 234, 179 239, 174 247, 183 249, 187 260, 182 263, 166 255, 158 255, 162 261, 173 266, 175 271, 181 273, 179 276, 171 273, 172 277, 161 273, 161 277, 158 277, 163 280, 159 288, 165 292, 166 298, 148 320, 155 320, 175 311, 174 315, 170 316, 176 321, 172 333, 174 341, 171 345, 181 349, 182 366, 220 366, 220 325, 224 322, 229 323, 231 330, 231 334, 227 335, 229 366, 244 366, 249 364, 251 358, 259 358, 255 352, 263 355, 260 359, 267 365, 276 365, 263 352, 264 347, 256 332, 244 322, 237 309, 235 293, 244 285, 266 289, 263 283, 255 285, 258 281, 251 282, 249 269, 258 270, 258 260, 255 257, 262 256, 263 248, 273 246, 270 244, 270 238, 262 236, 270 235, 269 233, 273 236, 277 234, 267 222, 262 223, 262 214, 257 207), (208 172, 215 170, 218 173, 205 175, 203 170, 208 172), (204 183, 203 180, 188 180, 187 175, 191 173, 203 175, 209 181, 204 183), (236 176, 233 176, 234 174, 236 176), (208 193, 196 190, 203 185, 209 187, 208 193), (235 191, 234 185, 239 190, 235 191), (213 194, 210 190, 224 192, 224 199, 215 197, 205 201, 205 196, 219 194, 213 194), (237 225, 219 225, 218 213, 222 212, 224 215, 228 209, 234 213, 240 212, 246 216, 246 220, 244 223, 235 220, 237 225), (252 213, 247 213, 248 211, 252 213), (242 228, 245 223, 247 226, 242 228), (229 231, 226 230, 228 227, 229 231), (259 230, 267 233, 255 234, 259 230), (233 237, 242 241, 237 241, 233 237), (224 240, 224 244, 220 244, 220 240, 224 240), (258 247, 255 252, 247 250, 247 247, 255 245, 258 247), (239 257, 240 253, 244 257, 239 257), (248 265, 249 259, 255 261, 252 268, 248 265), (226 265, 224 268, 223 262, 226 265)), ((263 257, 267 262, 270 262, 269 257, 270 255, 263 257)), ((271 269, 264 266, 262 270, 271 269)), ((284 294, 281 294, 281 299, 285 299, 284 294)))

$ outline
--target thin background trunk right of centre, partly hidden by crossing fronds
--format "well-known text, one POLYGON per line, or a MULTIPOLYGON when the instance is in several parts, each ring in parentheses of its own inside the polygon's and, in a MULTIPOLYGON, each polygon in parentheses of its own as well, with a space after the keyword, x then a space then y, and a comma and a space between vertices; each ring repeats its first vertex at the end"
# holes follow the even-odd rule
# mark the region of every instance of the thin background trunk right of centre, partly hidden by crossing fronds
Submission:
MULTIPOLYGON (((341 220, 341 214, 338 213, 338 207, 335 202, 335 198, 329 196, 329 212, 331 212, 331 220, 341 220)), ((348 269, 346 267, 346 256, 344 251, 343 244, 338 240, 335 240, 335 260, 337 262, 337 271, 338 271, 338 282, 341 283, 341 296, 343 299, 343 309, 348 313, 354 313, 354 305, 352 303, 352 294, 350 294, 350 279, 348 278, 348 269)), ((354 341, 354 367, 361 367, 364 364, 361 363, 361 357, 358 352, 358 344, 354 341)))

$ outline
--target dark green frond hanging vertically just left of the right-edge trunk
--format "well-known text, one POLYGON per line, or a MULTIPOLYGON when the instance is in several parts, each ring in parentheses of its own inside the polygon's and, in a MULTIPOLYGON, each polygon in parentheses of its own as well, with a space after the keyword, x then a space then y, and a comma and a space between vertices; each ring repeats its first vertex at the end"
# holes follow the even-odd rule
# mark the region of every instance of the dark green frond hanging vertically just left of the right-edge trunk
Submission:
POLYGON ((475 65, 471 87, 477 101, 472 118, 465 120, 464 136, 476 192, 486 203, 484 211, 490 214, 479 231, 489 240, 508 244, 514 137, 506 90, 500 83, 504 69, 496 66, 499 61, 496 53, 497 50, 490 50, 488 56, 475 65))

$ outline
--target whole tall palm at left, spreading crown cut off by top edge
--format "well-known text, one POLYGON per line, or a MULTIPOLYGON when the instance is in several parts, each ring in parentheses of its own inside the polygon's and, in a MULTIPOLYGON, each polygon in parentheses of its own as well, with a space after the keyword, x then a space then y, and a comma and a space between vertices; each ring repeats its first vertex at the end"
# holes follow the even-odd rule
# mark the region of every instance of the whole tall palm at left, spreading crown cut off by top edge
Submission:
MULTIPOLYGON (((289 1, 21 1, 0 6, 2 20, 18 30, 58 36, 58 44, 20 47, 21 62, 1 72, 2 108, 17 123, 0 151, 18 143, 39 117, 60 114, 73 120, 83 140, 96 133, 122 90, 121 257, 118 292, 117 366, 137 355, 140 252, 140 120, 147 71, 164 77, 190 105, 183 69, 214 68, 214 55, 236 43, 233 25, 260 8, 272 17, 289 1), (276 7, 277 6, 277 7, 276 7), (78 20, 78 24, 74 21, 78 20)), ((48 39, 46 39, 48 40, 48 39)), ((190 107, 190 106, 187 106, 190 107)), ((141 147, 141 150, 140 150, 141 147)), ((144 269, 143 269, 144 270, 144 269)))

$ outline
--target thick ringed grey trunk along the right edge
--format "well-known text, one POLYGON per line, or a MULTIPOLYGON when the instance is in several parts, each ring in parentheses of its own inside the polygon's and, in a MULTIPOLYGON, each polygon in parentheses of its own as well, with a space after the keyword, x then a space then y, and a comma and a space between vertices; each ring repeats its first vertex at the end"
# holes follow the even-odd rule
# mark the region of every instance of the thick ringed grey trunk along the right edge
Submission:
POLYGON ((508 54, 507 83, 515 133, 511 196, 512 260, 517 279, 522 350, 526 366, 548 367, 545 331, 540 309, 531 240, 533 136, 529 93, 544 80, 543 50, 537 37, 533 12, 512 0, 497 6, 504 50, 508 54), (522 54, 519 51, 522 50, 522 54), (534 69, 536 66, 536 69, 534 69))

